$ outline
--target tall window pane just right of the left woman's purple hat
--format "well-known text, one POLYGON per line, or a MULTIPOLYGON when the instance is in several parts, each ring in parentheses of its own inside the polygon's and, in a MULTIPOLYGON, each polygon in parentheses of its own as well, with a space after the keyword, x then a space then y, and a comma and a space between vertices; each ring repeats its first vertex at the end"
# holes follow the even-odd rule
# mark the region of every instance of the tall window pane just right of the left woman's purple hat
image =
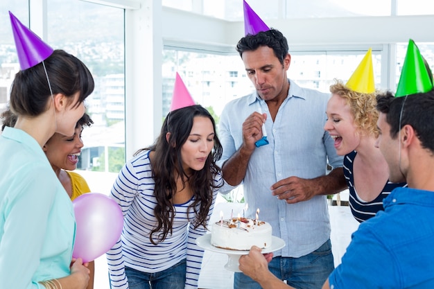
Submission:
POLYGON ((47 1, 48 43, 76 55, 95 80, 87 98, 94 125, 83 130, 78 170, 108 194, 125 163, 124 10, 86 1, 47 1))

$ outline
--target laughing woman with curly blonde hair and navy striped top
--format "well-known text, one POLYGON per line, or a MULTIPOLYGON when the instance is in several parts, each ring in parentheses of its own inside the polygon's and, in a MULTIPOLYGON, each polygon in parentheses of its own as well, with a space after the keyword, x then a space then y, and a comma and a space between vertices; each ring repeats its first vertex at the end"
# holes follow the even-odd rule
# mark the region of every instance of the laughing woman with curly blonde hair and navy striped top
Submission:
POLYGON ((358 222, 383 210, 383 199, 406 183, 389 182, 389 169, 383 155, 374 147, 376 92, 354 91, 339 80, 331 85, 324 130, 335 140, 338 155, 345 155, 344 175, 349 189, 349 207, 358 222))

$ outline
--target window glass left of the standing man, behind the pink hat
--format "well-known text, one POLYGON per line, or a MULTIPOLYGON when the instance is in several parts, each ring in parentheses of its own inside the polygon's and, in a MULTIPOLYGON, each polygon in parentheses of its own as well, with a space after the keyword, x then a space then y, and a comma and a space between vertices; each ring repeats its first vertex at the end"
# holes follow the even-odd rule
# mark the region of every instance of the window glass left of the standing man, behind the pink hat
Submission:
POLYGON ((180 76, 196 103, 210 108, 219 116, 223 106, 234 98, 252 91, 243 62, 236 55, 214 55, 164 50, 163 115, 171 105, 175 73, 180 76))

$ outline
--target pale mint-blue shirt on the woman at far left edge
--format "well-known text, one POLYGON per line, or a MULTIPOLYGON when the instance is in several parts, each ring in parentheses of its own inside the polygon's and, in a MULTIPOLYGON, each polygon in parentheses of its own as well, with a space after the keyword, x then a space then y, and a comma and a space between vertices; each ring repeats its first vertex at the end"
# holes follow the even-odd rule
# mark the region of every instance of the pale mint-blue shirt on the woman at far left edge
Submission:
POLYGON ((70 274, 72 203, 33 137, 6 127, 0 148, 0 288, 44 288, 70 274))

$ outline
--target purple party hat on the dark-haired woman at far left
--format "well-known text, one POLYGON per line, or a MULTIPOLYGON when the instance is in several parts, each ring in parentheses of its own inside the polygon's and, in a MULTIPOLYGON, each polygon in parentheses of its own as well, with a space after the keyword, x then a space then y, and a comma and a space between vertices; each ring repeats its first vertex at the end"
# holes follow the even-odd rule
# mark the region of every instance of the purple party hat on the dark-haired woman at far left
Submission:
POLYGON ((9 15, 21 70, 28 69, 46 60, 53 53, 53 49, 45 44, 32 30, 24 26, 12 12, 9 11, 9 15))

